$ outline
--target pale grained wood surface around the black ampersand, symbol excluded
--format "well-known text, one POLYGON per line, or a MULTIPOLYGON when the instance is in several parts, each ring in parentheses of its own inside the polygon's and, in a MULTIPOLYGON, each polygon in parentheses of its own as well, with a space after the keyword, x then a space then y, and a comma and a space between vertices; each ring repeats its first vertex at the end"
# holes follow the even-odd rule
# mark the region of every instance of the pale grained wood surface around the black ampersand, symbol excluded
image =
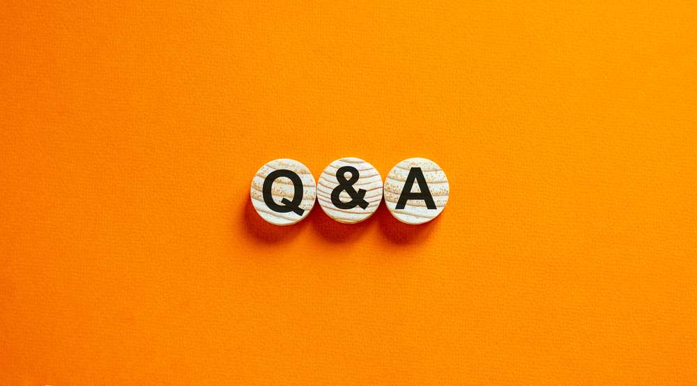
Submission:
MULTIPOLYGON (((351 177, 348 173, 345 176, 346 178, 351 177)), ((339 194, 339 198, 343 202, 351 201, 351 196, 346 191, 342 191, 339 194)), ((337 222, 355 224, 364 221, 375 213, 382 199, 383 178, 372 164, 360 158, 346 157, 333 161, 322 171, 317 180, 317 201, 319 201, 319 206, 324 210, 324 213, 337 222), (363 199, 368 202, 368 206, 365 209, 360 206, 355 206, 351 209, 341 209, 332 203, 332 191, 339 186, 336 173, 339 168, 344 166, 358 169, 358 180, 352 186, 356 191, 359 189, 366 190, 363 199)))

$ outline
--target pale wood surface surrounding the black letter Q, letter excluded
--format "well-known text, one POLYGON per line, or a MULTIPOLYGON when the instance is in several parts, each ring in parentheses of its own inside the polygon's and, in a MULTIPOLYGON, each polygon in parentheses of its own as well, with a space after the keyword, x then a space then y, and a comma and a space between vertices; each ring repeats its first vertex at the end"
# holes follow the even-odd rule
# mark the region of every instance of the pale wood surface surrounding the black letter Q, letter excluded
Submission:
MULTIPOLYGON (((282 199, 288 199, 293 201, 296 192, 296 187, 293 185, 291 178, 280 176, 273 180, 270 185, 270 198, 273 202, 279 206, 286 206, 282 203, 282 199)), ((314 182, 314 177, 312 172, 307 169, 304 164, 296 160, 289 160, 286 158, 281 158, 279 160, 273 160, 265 164, 259 171, 256 172, 254 179, 252 179, 252 189, 250 194, 252 195, 252 205, 259 213, 261 218, 265 219, 274 225, 290 225, 299 222, 309 215, 310 210, 314 206, 314 201, 317 196, 317 187, 314 182), (263 186, 266 178, 270 173, 274 171, 291 171, 296 173, 302 182, 302 201, 298 204, 297 208, 302 210, 302 215, 293 211, 279 212, 269 208, 267 203, 263 199, 263 186)), ((288 210, 282 209, 282 210, 288 210)))

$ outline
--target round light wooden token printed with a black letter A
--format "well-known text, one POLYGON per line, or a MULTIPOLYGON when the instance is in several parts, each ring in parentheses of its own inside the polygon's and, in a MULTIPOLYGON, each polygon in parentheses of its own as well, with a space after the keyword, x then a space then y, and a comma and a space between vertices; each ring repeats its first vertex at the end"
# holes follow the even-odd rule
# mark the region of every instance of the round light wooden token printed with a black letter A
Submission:
POLYGON ((406 224, 423 224, 436 218, 443 212, 449 194, 450 185, 443 169, 426 158, 409 158, 399 162, 385 178, 385 205, 393 216, 406 224), (410 175, 411 178, 408 178, 410 175), (415 197, 422 193, 420 182, 428 188, 433 201, 428 199, 429 194, 415 197), (408 185, 411 185, 411 190, 402 192, 408 185), (399 205, 402 194, 403 208, 399 205))

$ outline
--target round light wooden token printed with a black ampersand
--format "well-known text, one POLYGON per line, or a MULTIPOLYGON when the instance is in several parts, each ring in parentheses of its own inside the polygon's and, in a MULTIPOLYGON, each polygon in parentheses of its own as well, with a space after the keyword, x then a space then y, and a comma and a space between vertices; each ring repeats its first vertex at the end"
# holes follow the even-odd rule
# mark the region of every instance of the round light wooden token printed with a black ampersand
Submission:
POLYGON ((375 213, 382 199, 383 178, 372 164, 360 158, 335 160, 317 180, 319 206, 329 217, 344 224, 367 219, 375 213), (332 192, 339 206, 332 201, 332 192))

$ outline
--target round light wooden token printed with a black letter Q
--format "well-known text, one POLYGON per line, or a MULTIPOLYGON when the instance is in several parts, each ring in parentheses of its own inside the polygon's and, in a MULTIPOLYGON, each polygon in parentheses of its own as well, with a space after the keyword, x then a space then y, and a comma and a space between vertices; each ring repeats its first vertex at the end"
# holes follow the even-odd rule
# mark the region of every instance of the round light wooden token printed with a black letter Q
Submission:
POLYGON ((275 225, 290 225, 309 215, 317 187, 304 164, 282 158, 268 162, 256 172, 250 194, 261 218, 275 225))

